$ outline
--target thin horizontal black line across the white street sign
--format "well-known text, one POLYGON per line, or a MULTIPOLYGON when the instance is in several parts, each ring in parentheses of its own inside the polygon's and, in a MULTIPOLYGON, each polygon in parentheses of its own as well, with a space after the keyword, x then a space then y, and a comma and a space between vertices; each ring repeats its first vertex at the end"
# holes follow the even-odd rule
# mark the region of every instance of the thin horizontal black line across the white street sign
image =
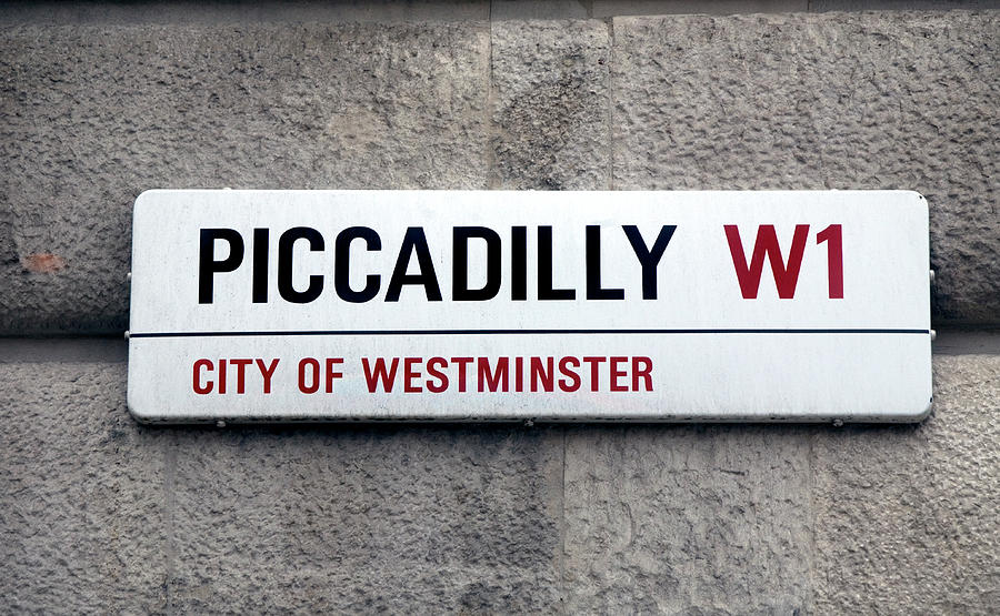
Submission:
POLYGON ((287 332, 146 332, 129 337, 209 336, 434 336, 539 334, 930 334, 930 330, 811 329, 811 330, 317 330, 287 332))

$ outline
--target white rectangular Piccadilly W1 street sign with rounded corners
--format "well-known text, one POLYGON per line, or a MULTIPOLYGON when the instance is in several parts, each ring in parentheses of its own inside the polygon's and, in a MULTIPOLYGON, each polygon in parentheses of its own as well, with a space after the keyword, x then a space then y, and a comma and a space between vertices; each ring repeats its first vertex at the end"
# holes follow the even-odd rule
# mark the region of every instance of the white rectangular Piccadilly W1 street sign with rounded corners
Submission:
POLYGON ((908 191, 157 190, 142 422, 919 421, 908 191))

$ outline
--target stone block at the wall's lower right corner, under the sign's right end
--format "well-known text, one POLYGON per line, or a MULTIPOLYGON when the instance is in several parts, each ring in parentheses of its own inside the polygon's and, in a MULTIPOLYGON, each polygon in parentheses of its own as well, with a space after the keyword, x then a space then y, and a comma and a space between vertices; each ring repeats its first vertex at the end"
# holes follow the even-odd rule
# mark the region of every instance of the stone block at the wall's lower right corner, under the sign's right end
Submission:
POLYGON ((934 357, 934 412, 814 445, 817 610, 996 614, 1000 356, 934 357))

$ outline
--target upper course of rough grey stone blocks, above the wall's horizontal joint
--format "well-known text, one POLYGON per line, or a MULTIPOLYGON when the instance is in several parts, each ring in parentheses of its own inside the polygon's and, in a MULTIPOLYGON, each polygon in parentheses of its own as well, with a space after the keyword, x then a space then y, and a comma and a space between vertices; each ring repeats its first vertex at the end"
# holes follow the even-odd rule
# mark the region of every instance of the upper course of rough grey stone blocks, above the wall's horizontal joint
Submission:
POLYGON ((8 335, 124 331, 134 198, 222 186, 918 190, 1000 323, 994 11, 0 37, 8 335))

